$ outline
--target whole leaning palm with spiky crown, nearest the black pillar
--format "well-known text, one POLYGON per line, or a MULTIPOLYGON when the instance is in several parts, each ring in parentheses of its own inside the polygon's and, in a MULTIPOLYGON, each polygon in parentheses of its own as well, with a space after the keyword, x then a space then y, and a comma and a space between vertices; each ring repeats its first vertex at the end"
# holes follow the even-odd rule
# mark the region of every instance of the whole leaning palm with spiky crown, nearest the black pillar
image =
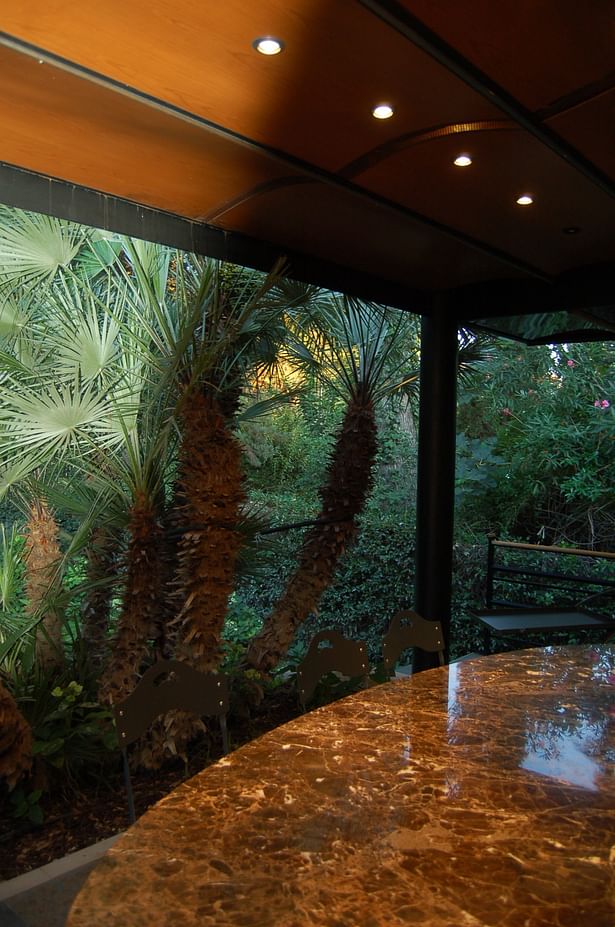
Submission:
POLYGON ((377 403, 418 382, 416 369, 400 376, 408 362, 395 356, 407 317, 394 319, 382 307, 345 296, 333 297, 320 312, 320 326, 312 324, 298 335, 318 357, 320 377, 343 396, 345 414, 320 493, 317 524, 305 535, 295 572, 248 648, 248 662, 260 671, 273 669, 286 654, 357 534, 357 518, 372 485, 377 403))

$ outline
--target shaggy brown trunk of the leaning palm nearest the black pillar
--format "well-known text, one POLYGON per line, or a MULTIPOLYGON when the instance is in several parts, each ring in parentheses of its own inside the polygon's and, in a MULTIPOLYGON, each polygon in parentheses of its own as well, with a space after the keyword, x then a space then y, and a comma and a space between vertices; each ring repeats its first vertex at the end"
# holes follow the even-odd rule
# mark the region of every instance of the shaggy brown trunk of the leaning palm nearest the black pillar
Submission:
POLYGON ((357 533, 356 517, 372 485, 376 456, 376 422, 370 400, 353 399, 346 410, 321 490, 319 518, 306 534, 299 563, 285 592, 261 632, 248 648, 248 662, 262 672, 273 669, 287 653, 295 632, 313 612, 335 568, 357 533))

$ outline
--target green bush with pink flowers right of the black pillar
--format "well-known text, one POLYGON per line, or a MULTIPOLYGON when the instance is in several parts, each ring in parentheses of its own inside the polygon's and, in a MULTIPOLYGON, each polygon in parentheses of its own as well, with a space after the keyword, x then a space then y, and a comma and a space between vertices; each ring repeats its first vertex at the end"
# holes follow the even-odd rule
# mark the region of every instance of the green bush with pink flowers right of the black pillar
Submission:
POLYGON ((529 540, 608 545, 615 528, 615 345, 498 342, 460 392, 462 517, 529 540), (477 452, 481 466, 468 468, 477 452), (480 479, 477 473, 480 471, 480 479))

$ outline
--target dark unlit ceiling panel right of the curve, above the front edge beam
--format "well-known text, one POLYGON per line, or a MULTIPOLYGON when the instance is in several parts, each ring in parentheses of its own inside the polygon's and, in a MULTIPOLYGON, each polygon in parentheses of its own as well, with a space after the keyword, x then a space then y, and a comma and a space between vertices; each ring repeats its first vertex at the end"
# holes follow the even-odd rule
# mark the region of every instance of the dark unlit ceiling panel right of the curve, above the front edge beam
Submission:
POLYGON ((286 246, 405 284, 412 279, 419 289, 515 276, 468 245, 316 183, 271 190, 260 201, 229 211, 221 222, 229 230, 280 242, 281 250, 286 246))

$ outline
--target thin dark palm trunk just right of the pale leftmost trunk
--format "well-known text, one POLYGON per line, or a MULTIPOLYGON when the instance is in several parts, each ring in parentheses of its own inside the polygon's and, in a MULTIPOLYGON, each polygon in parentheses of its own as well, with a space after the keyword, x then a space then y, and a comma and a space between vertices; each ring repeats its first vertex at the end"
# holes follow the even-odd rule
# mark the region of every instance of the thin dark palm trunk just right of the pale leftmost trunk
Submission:
POLYGON ((117 540, 105 528, 95 528, 87 550, 87 581, 81 628, 90 666, 100 674, 109 657, 109 616, 116 570, 117 540))

